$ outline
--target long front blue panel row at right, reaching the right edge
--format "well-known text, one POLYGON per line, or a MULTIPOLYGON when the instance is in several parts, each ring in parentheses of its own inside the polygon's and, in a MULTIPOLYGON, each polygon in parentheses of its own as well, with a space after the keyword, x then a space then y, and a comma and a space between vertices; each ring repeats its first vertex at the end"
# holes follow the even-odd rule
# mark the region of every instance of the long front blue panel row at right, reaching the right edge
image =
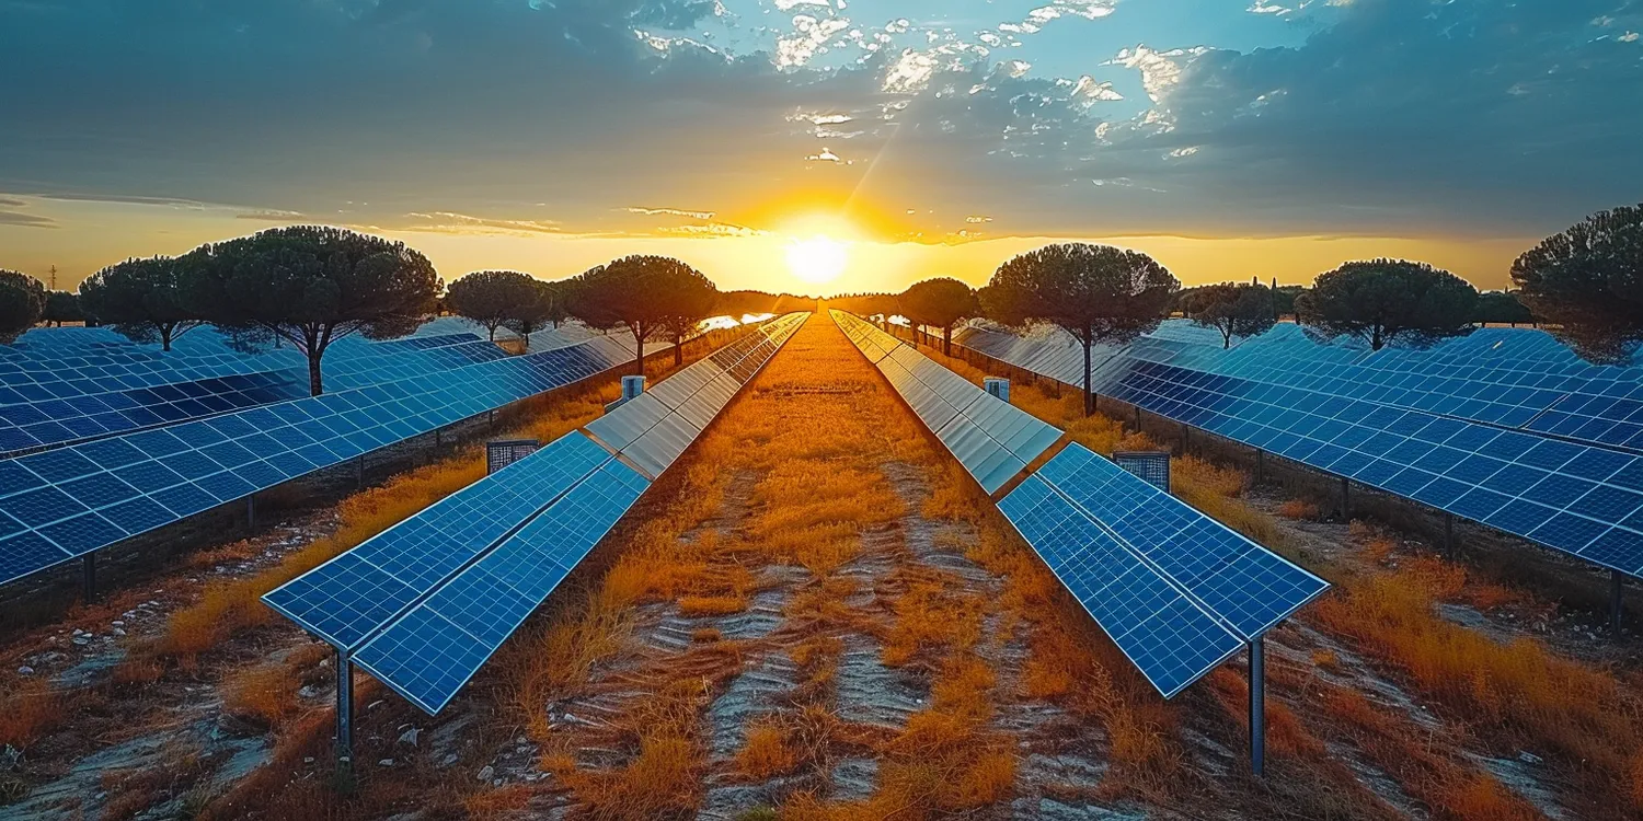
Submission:
MULTIPOLYGON (((969 335, 964 345, 1083 381, 1038 371, 1043 356, 1022 356, 1030 345, 996 338, 969 335)), ((1643 573, 1640 456, 1127 353, 1102 363, 1094 389, 1587 562, 1643 573)))

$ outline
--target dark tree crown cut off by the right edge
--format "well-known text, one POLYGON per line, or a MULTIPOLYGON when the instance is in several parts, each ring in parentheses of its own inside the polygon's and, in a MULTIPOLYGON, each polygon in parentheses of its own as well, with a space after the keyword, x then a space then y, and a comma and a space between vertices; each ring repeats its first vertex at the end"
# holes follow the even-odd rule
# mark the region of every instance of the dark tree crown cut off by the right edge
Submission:
POLYGON ((1643 204, 1597 212, 1512 263, 1518 299, 1594 363, 1643 342, 1643 204))

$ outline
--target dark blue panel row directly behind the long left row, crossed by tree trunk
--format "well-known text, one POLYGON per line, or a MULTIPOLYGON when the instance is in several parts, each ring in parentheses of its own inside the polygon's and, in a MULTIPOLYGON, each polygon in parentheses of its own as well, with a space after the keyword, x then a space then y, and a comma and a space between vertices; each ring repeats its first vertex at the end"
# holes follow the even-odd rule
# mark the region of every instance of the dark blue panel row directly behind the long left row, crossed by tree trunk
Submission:
MULTIPOLYGON (((468 340, 430 338, 439 345, 422 340, 412 337, 343 346, 327 356, 325 383, 332 391, 365 388, 506 356, 496 345, 472 335, 468 340), (406 345, 411 342, 419 345, 406 345)), ((108 437, 302 396, 309 396, 307 366, 0 406, 0 453, 108 437)))

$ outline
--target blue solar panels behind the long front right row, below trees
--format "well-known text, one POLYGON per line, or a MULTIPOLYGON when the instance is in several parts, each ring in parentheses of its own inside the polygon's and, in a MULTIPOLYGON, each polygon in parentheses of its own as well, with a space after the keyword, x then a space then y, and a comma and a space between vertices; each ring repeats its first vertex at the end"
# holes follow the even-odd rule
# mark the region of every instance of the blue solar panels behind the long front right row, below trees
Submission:
MULTIPOLYGON (((1083 348, 1065 333, 1022 340, 969 327, 955 342, 1083 383, 1083 348)), ((1643 368, 1584 363, 1539 330, 1482 328, 1433 348, 1369 351, 1319 345, 1286 323, 1222 350, 1217 332, 1167 320, 1130 345, 1102 346, 1094 360, 1098 371, 1153 361, 1643 452, 1643 368)))

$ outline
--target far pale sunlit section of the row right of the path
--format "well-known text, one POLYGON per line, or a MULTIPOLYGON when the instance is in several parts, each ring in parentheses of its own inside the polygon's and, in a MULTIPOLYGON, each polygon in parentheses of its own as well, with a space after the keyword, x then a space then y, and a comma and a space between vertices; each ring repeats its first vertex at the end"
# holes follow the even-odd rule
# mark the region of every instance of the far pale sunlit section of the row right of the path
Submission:
POLYGON ((872 323, 843 312, 835 312, 835 319, 987 493, 1002 488, 1061 438, 1060 430, 987 394, 872 323))

